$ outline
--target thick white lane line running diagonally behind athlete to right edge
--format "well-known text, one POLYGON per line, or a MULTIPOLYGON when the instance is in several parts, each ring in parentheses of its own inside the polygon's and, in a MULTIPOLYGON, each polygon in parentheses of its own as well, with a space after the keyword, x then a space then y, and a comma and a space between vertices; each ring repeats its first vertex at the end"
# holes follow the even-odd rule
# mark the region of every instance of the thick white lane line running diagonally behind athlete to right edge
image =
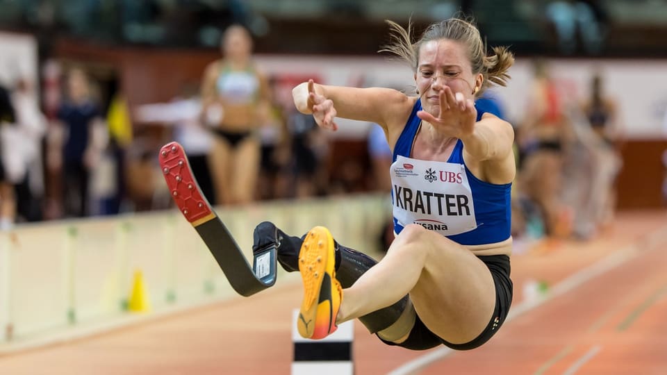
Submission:
MULTIPOLYGON (((667 239, 666 233, 667 231, 665 230, 665 228, 660 228, 659 230, 650 233, 650 235, 647 235, 644 238, 644 241, 638 240, 636 242, 643 242, 642 249, 646 248, 656 249, 657 247, 655 245, 667 239)), ((554 285, 540 297, 530 300, 523 300, 518 305, 513 306, 504 324, 507 324, 507 322, 511 321, 511 319, 518 317, 519 315, 522 315, 524 313, 527 313, 528 311, 533 310, 538 306, 541 306, 543 303, 550 301, 555 297, 559 297, 562 294, 569 292, 570 290, 578 288, 579 286, 586 283, 586 281, 589 281, 592 278, 600 276, 601 274, 604 274, 605 272, 608 272, 609 270, 618 267, 619 265, 634 258, 638 254, 639 254, 639 245, 636 243, 629 244, 622 250, 616 251, 612 253, 610 256, 607 256, 607 258, 602 258, 602 260, 598 261, 598 263, 593 263, 593 265, 590 265, 584 269, 579 270, 579 272, 571 276, 568 276, 560 283, 554 285)), ((424 356, 420 356, 418 358, 415 358, 414 360, 404 363, 404 365, 401 365, 400 367, 394 369, 392 372, 389 372, 388 375, 415 374, 420 369, 423 369, 424 367, 427 367, 431 363, 436 362, 436 360, 445 358, 450 353, 452 353, 452 349, 449 349, 447 347, 439 347, 438 349, 434 349, 433 351, 425 354, 424 356)))

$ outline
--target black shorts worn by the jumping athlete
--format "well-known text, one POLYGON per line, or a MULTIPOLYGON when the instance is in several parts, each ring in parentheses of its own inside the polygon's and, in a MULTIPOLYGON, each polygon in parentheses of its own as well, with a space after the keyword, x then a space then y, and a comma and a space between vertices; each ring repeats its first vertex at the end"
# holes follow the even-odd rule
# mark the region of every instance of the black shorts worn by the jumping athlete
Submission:
POLYGON ((509 256, 506 255, 496 255, 496 256, 478 256, 478 258, 484 262, 489 271, 491 271, 491 276, 493 276, 493 283, 495 284, 495 309, 493 310, 493 316, 491 321, 488 322, 484 331, 482 331, 477 338, 472 339, 470 342, 464 344, 452 344, 439 338, 435 333, 431 332, 427 326, 422 322, 417 315, 415 319, 415 325, 410 331, 410 335, 407 340, 396 344, 394 342, 388 342, 382 340, 388 345, 396 345, 399 347, 404 347, 411 350, 425 350, 437 347, 438 345, 444 344, 446 347, 455 350, 470 350, 480 347, 482 344, 487 342, 491 337, 498 331, 500 326, 507 318, 509 313, 509 307, 512 303, 512 281, 509 278, 510 274, 510 265, 509 265, 509 256))

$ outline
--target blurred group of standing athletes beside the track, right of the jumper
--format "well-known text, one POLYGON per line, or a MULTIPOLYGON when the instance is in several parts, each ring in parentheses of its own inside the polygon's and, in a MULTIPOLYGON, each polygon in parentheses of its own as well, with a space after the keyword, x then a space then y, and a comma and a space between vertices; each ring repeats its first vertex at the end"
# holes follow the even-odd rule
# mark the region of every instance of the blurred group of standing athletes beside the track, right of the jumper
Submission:
POLYGON ((515 232, 592 238, 614 219, 623 139, 618 104, 605 92, 602 72, 591 76, 588 96, 577 97, 539 59, 529 90, 525 117, 516 122, 515 232))

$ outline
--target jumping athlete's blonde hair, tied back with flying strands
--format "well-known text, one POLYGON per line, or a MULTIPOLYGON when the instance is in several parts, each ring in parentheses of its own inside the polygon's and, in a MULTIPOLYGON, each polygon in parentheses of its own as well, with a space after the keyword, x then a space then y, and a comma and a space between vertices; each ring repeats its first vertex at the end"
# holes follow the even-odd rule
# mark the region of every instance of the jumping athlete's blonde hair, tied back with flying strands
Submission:
POLYGON ((484 76, 484 83, 477 92, 481 95, 491 83, 506 86, 510 76, 507 70, 514 63, 514 55, 507 47, 493 47, 493 54, 486 54, 486 44, 482 42, 481 35, 477 26, 472 20, 461 19, 458 17, 445 19, 442 22, 431 24, 426 31, 422 33, 417 42, 413 40, 413 25, 408 22, 408 28, 403 28, 396 22, 386 20, 390 28, 390 42, 380 52, 393 53, 406 63, 409 63, 413 72, 417 72, 419 64, 419 51, 422 44, 432 40, 454 40, 466 46, 468 58, 472 67, 472 74, 481 73, 484 76))

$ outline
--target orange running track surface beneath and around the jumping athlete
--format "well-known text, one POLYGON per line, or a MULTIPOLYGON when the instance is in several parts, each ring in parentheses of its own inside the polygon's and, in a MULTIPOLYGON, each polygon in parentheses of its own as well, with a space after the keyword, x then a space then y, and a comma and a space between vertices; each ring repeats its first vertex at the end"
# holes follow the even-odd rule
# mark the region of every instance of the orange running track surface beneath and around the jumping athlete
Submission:
MULTIPOLYGON (((344 240, 343 240, 344 241, 344 240)), ((464 352, 381 344, 355 323, 357 374, 667 374, 667 215, 623 213, 590 242, 512 258, 511 317, 464 352), (546 294, 524 299, 534 281, 546 294)), ((0 357, 0 374, 289 374, 297 278, 249 298, 0 357)))

